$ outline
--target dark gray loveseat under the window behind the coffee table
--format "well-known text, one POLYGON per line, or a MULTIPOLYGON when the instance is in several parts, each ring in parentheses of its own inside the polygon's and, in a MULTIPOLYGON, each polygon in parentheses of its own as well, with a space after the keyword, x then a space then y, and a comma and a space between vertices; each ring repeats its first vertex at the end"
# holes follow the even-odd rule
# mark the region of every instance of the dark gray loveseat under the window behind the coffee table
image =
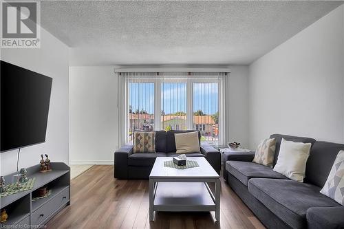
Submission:
MULTIPOLYGON (((190 131, 155 131, 156 153, 133 153, 132 145, 125 145, 115 152, 114 177, 118 179, 148 179, 156 157, 174 157, 175 133, 190 131)), ((200 140, 200 132, 198 132, 200 140)), ((219 173, 221 169, 221 155, 210 145, 201 145, 201 151, 188 153, 187 157, 206 157, 206 160, 219 173)))

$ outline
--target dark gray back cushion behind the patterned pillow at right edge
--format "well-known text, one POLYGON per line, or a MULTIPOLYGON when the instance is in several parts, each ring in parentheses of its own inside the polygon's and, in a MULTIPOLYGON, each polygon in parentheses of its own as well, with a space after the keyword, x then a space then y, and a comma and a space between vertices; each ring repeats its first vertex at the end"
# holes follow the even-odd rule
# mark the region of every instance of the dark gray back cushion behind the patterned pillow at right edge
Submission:
POLYGON ((341 150, 344 150, 344 144, 315 142, 310 149, 310 157, 305 167, 305 182, 323 187, 341 150))

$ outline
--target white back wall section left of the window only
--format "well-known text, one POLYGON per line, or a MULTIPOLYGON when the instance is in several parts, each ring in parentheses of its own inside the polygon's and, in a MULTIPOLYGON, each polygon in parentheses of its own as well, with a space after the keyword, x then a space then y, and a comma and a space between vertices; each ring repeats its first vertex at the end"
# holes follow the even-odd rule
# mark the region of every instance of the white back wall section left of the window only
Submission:
POLYGON ((118 149, 114 67, 69 67, 69 161, 113 164, 118 149))

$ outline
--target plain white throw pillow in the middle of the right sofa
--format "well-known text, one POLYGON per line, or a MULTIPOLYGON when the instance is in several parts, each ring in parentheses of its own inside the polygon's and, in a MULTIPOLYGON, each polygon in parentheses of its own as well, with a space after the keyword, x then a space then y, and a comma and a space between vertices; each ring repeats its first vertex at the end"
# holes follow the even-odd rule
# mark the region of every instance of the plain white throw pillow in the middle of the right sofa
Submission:
POLYGON ((297 182, 305 178, 305 164, 310 155, 311 143, 286 141, 282 138, 274 171, 297 182))

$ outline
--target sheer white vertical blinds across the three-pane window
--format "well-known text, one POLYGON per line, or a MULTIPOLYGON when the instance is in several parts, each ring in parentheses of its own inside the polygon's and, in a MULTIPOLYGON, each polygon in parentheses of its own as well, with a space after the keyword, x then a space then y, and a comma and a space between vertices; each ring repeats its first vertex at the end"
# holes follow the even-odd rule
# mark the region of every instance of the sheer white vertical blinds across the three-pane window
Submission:
POLYGON ((118 138, 131 142, 135 130, 197 129, 202 141, 228 139, 228 73, 118 73, 118 138))

